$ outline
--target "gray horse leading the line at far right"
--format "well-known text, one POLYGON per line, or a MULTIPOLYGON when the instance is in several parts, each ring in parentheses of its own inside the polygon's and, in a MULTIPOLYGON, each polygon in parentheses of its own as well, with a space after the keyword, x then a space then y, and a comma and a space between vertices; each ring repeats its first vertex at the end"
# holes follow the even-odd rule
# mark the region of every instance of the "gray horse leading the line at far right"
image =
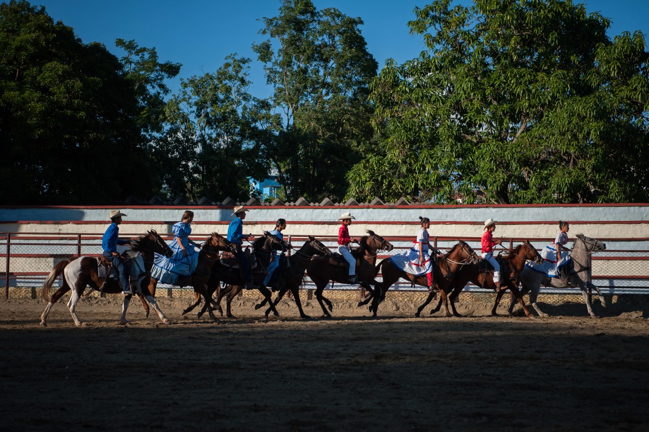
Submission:
MULTIPOLYGON (((606 307, 606 301, 600 288, 593 283, 589 282, 591 279, 591 254, 593 252, 600 252, 606 249, 606 244, 595 240, 591 237, 586 237, 583 234, 576 235, 574 240, 574 245, 572 247, 572 252, 570 252, 570 257, 574 264, 574 268, 568 279, 564 282, 561 279, 556 277, 548 277, 543 273, 539 273, 528 266, 523 268, 523 271, 520 273, 520 283, 522 284, 522 290, 520 290, 520 295, 524 295, 527 292, 530 292, 530 303, 536 309, 539 316, 549 316, 539 309, 539 305, 536 303, 536 299, 539 296, 539 290, 541 290, 541 285, 551 286, 552 288, 579 288, 582 290, 583 301, 586 303, 588 313, 594 318, 596 315, 593 313, 593 308, 588 298, 588 288, 594 288, 597 291, 597 294, 600 295, 602 299, 602 306, 606 307)), ((509 314, 514 309, 514 301, 511 301, 509 305, 509 314)))

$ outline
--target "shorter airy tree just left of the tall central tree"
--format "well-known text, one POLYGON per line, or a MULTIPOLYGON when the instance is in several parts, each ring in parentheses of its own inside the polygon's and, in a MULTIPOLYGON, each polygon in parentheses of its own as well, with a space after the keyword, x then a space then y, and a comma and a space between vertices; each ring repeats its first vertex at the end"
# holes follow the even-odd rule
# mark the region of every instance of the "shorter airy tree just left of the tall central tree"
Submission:
POLYGON ((257 140, 273 118, 249 93, 250 61, 229 55, 215 73, 182 80, 167 103, 165 131, 154 150, 167 197, 243 200, 249 196, 247 176, 267 175, 257 140))

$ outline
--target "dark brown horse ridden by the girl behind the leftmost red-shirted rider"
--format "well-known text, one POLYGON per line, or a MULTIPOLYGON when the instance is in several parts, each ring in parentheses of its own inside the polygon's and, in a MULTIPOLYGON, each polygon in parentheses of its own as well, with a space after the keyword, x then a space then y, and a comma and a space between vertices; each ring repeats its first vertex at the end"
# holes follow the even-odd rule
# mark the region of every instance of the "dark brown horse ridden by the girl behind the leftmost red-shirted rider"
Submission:
MULTIPOLYGON (((300 318, 307 320, 311 317, 305 314, 304 310, 302 309, 299 288, 304 283, 304 271, 306 270, 306 266, 308 266, 309 262, 312 260, 313 255, 328 257, 331 255, 331 252, 326 246, 324 246, 322 242, 320 242, 316 238, 313 238, 312 236, 309 236, 309 240, 304 242, 300 249, 298 249, 297 251, 295 251, 295 253, 293 253, 293 255, 288 257, 288 265, 284 268, 284 271, 280 273, 277 284, 278 286, 283 286, 279 289, 279 292, 275 297, 275 300, 273 301, 273 305, 276 306, 277 303, 279 303, 279 301, 282 299, 284 294, 286 294, 288 290, 291 290, 293 299, 295 299, 295 305, 297 305, 297 309, 300 311, 300 318)), ((220 299, 221 298, 219 297, 217 301, 219 301, 220 299)), ((230 301, 232 301, 231 295, 228 295, 228 312, 230 310, 230 301)), ((260 307, 263 307, 263 305, 265 305, 266 303, 266 299, 263 299, 261 303, 254 306, 254 309, 260 309, 260 307)), ((266 318, 268 318, 270 311, 270 307, 266 309, 266 318)))

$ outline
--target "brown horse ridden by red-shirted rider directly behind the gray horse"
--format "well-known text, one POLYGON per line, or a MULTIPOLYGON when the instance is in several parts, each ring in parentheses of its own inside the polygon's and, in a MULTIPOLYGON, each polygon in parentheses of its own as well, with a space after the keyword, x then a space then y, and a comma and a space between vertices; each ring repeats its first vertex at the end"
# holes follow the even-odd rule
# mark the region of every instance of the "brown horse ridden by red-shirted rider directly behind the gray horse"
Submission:
MULTIPOLYGON (((498 261, 500 262, 500 272, 502 275, 504 275, 504 278, 501 281, 501 290, 497 292, 500 294, 500 297, 498 297, 498 294, 496 294, 496 302, 493 306, 493 309, 491 310, 491 314, 493 316, 497 316, 498 314, 496 313, 496 307, 498 306, 498 301, 500 301, 500 298, 502 298, 502 294, 504 294, 505 290, 509 288, 511 292, 513 292, 515 298, 519 300, 519 304, 523 308, 523 311, 527 314, 527 316, 532 316, 530 314, 530 311, 525 307, 525 303, 522 299, 522 296, 520 295, 519 288, 518 288, 518 275, 520 275, 520 272, 522 271, 522 268, 525 265, 525 262, 527 260, 538 260, 541 259, 541 255, 536 251, 536 249, 530 244, 530 242, 525 242, 519 246, 517 246, 516 249, 513 251, 508 251, 507 255, 504 257, 499 256, 497 257, 498 261), (511 267, 511 264, 515 266, 515 268, 511 267), (515 275, 516 280, 512 281, 511 277, 515 275)), ((470 263, 465 266, 462 266, 458 272, 455 273, 453 280, 452 280, 452 285, 453 285, 453 290, 449 296, 447 296, 448 301, 450 301, 451 309, 453 311, 454 316, 462 316, 455 308, 455 300, 458 298, 459 293, 464 289, 464 287, 471 281, 474 283, 474 285, 477 286, 482 286, 482 288, 489 288, 491 290, 496 291, 496 284, 493 281, 493 270, 489 270, 487 266, 485 265, 484 260, 480 260, 478 263, 470 263)), ((424 304, 422 304, 419 309, 417 309, 417 316, 419 316, 419 313, 430 303, 430 296, 424 304)), ((430 311, 431 314, 434 314, 435 312, 439 311, 441 308, 441 299, 437 303, 437 307, 430 311)), ((445 308, 447 311, 447 316, 450 316, 448 314, 448 306, 447 303, 445 303, 445 308)))

